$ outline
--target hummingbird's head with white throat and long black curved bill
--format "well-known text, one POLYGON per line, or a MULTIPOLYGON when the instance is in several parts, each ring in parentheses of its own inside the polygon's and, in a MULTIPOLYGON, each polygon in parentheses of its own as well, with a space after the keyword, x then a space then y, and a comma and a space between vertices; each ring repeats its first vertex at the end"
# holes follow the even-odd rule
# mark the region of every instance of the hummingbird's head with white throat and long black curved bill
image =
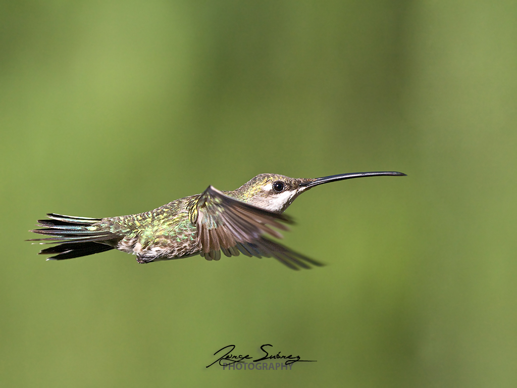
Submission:
POLYGON ((364 176, 396 175, 401 172, 355 172, 324 176, 321 178, 290 178, 279 174, 259 174, 237 190, 227 192, 228 195, 250 205, 282 213, 303 191, 323 183, 342 181, 364 176))

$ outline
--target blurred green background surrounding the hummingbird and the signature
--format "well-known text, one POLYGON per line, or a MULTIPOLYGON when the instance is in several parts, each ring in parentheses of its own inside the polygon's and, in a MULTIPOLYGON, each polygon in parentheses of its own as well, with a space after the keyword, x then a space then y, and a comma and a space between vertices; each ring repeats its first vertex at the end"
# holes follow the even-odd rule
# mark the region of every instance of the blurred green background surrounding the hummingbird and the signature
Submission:
POLYGON ((517 3, 0 2, 0 385, 517 385, 517 3), (328 265, 45 262, 45 213, 139 213, 258 173, 318 187, 328 265), (223 371, 236 353, 291 371, 223 371))

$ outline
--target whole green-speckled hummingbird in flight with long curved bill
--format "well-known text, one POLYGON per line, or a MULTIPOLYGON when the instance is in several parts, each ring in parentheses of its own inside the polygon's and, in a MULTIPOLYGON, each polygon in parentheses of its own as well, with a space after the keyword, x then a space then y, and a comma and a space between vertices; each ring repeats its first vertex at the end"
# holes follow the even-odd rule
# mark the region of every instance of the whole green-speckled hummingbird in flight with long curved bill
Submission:
POLYGON ((201 194, 177 199, 150 212, 121 217, 88 218, 47 214, 42 229, 49 237, 28 241, 58 244, 42 249, 47 260, 64 260, 111 249, 132 253, 139 263, 201 255, 206 260, 227 256, 273 257, 293 270, 323 264, 270 240, 282 238, 291 217, 282 214, 302 193, 315 186, 367 176, 405 176, 401 172, 355 172, 321 178, 290 178, 259 174, 233 191, 214 186, 201 194), (273 229, 275 228, 275 229, 273 229), (278 229, 278 230, 277 230, 278 229))

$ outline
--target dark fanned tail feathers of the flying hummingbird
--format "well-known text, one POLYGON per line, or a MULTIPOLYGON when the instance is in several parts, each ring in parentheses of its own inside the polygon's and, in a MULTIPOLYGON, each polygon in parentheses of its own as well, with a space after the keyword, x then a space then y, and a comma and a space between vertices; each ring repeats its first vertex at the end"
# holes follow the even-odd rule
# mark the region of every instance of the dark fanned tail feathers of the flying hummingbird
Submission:
POLYGON ((40 244, 59 244, 42 249, 40 255, 57 255, 47 260, 72 259, 74 257, 93 255, 114 248, 120 236, 106 230, 97 230, 95 223, 101 218, 72 217, 49 213, 50 219, 38 220, 38 226, 31 232, 48 235, 45 238, 31 238, 28 241, 48 241, 40 244))

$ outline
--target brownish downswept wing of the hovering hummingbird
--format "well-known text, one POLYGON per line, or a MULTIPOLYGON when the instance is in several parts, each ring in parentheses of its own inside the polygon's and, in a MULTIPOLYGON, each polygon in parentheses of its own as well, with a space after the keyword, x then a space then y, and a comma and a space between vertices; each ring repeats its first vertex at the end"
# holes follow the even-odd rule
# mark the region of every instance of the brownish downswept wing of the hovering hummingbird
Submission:
POLYGON ((282 238, 271 227, 289 230, 280 221, 291 223, 292 220, 283 214, 235 200, 212 186, 202 193, 193 208, 197 212, 197 219, 192 217, 192 221, 197 223, 201 255, 207 260, 219 260, 222 250, 228 257, 238 256, 240 252, 249 257, 274 257, 293 270, 310 268, 308 263, 322 265, 262 236, 267 233, 282 238))

